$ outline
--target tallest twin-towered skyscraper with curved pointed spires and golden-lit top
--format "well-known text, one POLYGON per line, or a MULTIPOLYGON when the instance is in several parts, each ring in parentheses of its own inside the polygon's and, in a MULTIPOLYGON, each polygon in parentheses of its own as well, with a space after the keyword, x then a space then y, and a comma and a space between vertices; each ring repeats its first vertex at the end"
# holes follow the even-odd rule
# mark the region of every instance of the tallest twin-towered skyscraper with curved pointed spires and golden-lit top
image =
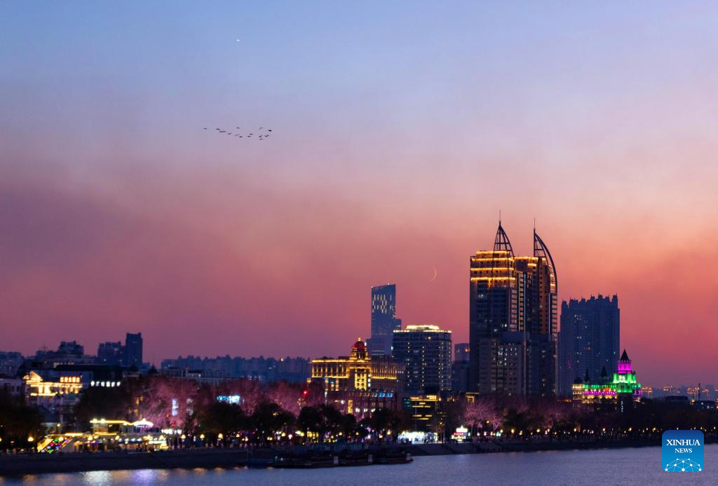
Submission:
POLYGON ((499 222, 490 251, 470 259, 469 388, 556 393, 556 266, 533 231, 533 256, 516 256, 499 222))

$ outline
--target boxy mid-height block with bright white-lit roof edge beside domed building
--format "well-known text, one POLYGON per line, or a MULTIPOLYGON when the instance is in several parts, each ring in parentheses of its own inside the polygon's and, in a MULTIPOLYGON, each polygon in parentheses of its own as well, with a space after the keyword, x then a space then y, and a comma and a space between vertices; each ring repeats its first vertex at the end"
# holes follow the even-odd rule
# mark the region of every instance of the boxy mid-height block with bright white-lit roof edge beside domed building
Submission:
POLYGON ((406 326, 395 330, 393 337, 393 357, 406 368, 406 393, 451 391, 451 331, 406 326))

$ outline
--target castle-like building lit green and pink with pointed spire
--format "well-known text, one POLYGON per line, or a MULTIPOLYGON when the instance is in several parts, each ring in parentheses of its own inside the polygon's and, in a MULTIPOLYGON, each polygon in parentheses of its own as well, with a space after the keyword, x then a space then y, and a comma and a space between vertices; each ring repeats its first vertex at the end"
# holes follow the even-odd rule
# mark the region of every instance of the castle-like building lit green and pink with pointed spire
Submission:
POLYGON ((636 380, 631 360, 625 350, 618 360, 617 368, 610 380, 606 373, 602 373, 602 378, 594 383, 588 372, 583 382, 576 380, 572 386, 574 405, 625 411, 632 403, 640 401, 641 385, 636 380))

